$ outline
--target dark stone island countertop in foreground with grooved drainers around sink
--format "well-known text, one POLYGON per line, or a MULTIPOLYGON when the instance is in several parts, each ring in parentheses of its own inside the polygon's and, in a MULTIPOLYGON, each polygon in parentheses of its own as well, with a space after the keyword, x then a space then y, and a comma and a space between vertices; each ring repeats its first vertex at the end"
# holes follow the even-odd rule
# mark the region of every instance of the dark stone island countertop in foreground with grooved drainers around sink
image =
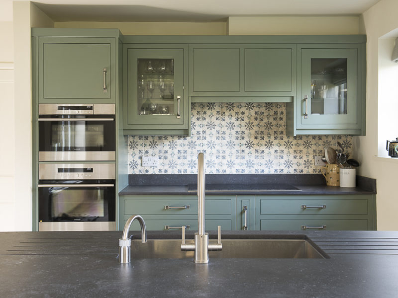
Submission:
MULTIPOLYGON (((225 231, 222 237, 279 234, 304 234, 330 258, 119 264, 121 231, 1 232, 1 297, 397 297, 397 231, 225 231)), ((170 237, 181 235, 148 232, 148 238, 170 237)))

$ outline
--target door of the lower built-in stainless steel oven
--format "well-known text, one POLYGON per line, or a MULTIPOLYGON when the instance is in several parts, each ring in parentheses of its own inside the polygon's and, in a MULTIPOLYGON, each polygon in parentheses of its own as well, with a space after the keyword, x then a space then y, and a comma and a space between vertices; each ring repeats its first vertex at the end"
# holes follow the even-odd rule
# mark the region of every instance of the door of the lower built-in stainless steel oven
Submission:
POLYGON ((114 230, 115 180, 40 180, 39 231, 114 230))

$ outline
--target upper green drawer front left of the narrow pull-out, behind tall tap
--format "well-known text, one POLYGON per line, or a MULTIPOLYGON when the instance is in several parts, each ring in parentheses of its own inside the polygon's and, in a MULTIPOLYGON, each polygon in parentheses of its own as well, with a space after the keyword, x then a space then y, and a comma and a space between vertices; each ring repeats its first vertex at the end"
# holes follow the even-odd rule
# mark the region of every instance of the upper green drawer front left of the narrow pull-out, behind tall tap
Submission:
MULTIPOLYGON (((230 199, 211 199, 205 203, 206 215, 232 214, 230 199)), ((124 200, 124 215, 198 215, 198 200, 124 200), (184 208, 189 206, 189 208, 184 208), (173 208, 174 207, 174 208, 173 208), (181 208, 175 208, 181 207, 181 208)))

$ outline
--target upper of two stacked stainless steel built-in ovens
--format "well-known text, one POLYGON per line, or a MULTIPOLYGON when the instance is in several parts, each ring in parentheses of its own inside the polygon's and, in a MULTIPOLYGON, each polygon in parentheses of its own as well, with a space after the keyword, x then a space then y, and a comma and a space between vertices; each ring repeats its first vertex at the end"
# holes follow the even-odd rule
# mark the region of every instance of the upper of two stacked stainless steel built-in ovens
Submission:
POLYGON ((114 104, 39 104, 39 161, 115 160, 114 104))

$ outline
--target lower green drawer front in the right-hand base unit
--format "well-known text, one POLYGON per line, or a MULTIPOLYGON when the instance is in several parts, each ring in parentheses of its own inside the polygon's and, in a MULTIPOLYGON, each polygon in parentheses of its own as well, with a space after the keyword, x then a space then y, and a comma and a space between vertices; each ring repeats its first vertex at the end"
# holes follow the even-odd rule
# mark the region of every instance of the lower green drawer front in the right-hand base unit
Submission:
POLYGON ((260 230, 368 230, 368 220, 260 220, 260 230))

